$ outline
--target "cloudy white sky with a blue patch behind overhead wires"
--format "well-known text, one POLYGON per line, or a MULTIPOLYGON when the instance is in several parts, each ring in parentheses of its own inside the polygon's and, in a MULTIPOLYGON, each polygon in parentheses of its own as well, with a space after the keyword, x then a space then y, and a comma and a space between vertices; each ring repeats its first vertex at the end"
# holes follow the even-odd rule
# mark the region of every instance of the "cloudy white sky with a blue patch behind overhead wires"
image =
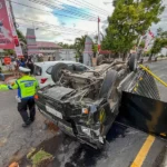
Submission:
MULTIPOLYGON (((26 35, 27 28, 35 28, 38 41, 72 43, 82 35, 94 37, 107 27, 107 17, 114 11, 112 0, 11 0, 19 29, 26 35), (41 4, 45 2, 45 6, 41 4), (29 8, 29 7, 31 8, 29 8)), ((167 4, 167 0, 164 0, 167 4)), ((167 30, 167 9, 163 20, 153 24, 167 30)))

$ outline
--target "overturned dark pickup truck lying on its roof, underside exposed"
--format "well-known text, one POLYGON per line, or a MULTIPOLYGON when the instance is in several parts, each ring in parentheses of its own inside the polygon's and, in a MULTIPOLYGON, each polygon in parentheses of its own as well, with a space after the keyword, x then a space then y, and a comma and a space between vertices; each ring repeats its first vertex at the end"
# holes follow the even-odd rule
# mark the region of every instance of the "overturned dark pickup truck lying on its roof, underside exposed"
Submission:
POLYGON ((128 62, 115 60, 80 73, 57 63, 51 77, 55 86, 37 94, 39 111, 63 132, 95 148, 105 144, 119 114, 122 92, 159 99, 154 78, 137 67, 135 56, 128 62))

